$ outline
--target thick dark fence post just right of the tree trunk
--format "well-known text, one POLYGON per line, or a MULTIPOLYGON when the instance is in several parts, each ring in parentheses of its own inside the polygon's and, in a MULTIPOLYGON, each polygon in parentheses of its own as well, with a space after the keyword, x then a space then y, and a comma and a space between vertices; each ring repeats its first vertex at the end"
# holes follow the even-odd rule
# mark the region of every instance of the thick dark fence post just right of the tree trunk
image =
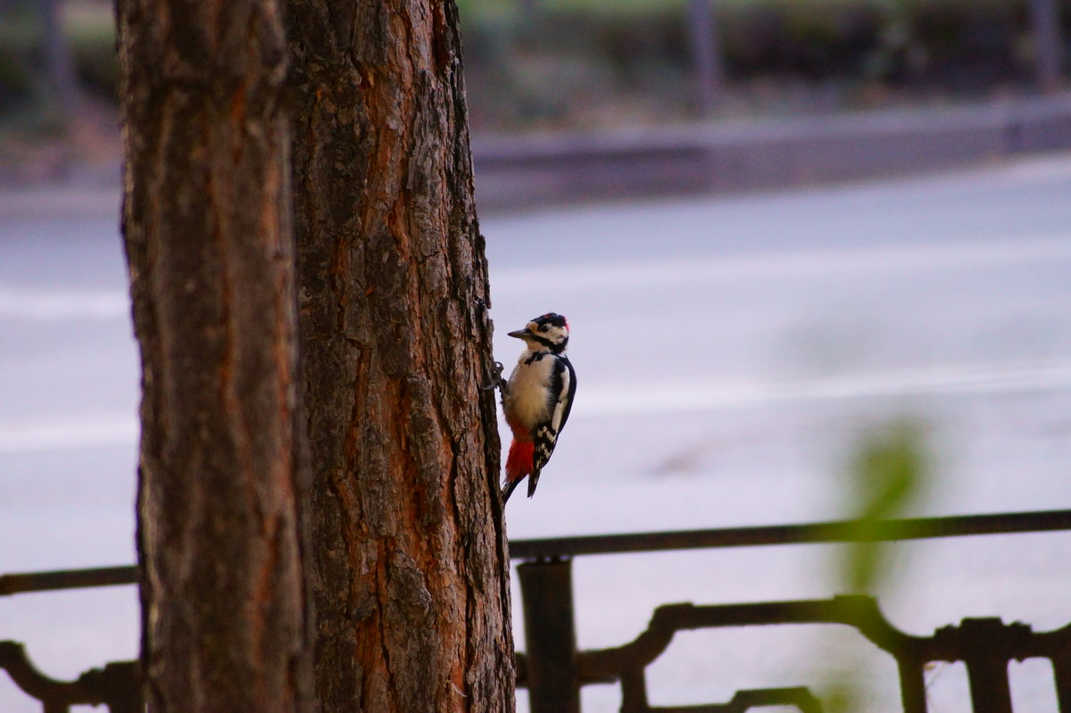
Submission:
POLYGON ((531 713, 580 713, 573 571, 568 559, 517 565, 531 713))

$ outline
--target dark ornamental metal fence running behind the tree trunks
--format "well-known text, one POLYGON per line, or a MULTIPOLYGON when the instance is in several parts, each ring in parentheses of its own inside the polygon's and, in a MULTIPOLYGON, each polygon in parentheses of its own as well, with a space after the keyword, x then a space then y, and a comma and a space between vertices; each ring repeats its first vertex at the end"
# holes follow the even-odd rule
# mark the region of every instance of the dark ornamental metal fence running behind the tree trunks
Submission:
MULTIPOLYGON (((778 624, 839 624, 856 628, 896 662, 905 713, 926 711, 923 670, 931 662, 964 662, 975 713, 1011 713, 1008 664, 1049 658, 1061 713, 1071 713, 1071 623, 1035 632, 999 619, 964 619, 932 636, 912 636, 892 626, 877 603, 865 596, 716 606, 674 604, 655 609, 647 629, 612 649, 577 651, 573 615, 572 560, 590 555, 652 552, 767 545, 906 541, 929 537, 1071 530, 1071 510, 916 518, 879 522, 810 525, 654 532, 510 543, 517 572, 527 651, 518 652, 517 685, 528 688, 532 713, 579 713, 582 686, 617 683, 622 713, 735 713, 763 706, 794 706, 819 713, 821 702, 800 686, 739 691, 726 702, 657 708, 648 702, 645 669, 679 631, 778 624)), ((130 585, 133 566, 0 576, 0 595, 130 585)), ((0 669, 44 713, 65 713, 75 704, 105 704, 111 713, 142 708, 136 662, 107 664, 76 681, 56 681, 37 671, 21 644, 0 641, 0 669)))

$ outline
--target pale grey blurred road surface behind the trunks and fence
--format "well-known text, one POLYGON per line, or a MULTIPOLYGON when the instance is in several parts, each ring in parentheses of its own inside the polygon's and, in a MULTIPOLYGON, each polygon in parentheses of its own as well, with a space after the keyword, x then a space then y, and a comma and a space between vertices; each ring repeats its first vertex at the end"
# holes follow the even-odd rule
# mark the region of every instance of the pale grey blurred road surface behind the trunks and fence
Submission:
MULTIPOLYGON (((1069 196, 1062 155, 485 216, 498 358, 518 347, 506 332, 560 312, 579 383, 539 495, 510 503, 510 535, 838 517, 851 443, 897 416, 924 422, 934 449, 919 514, 1069 506, 1069 196)), ((134 559, 137 355, 110 212, 0 206, 0 572, 134 559)), ((580 644, 631 639, 667 602, 828 596, 831 550, 580 560, 580 644)), ((965 616, 1071 621, 1071 535, 894 552, 884 606, 907 631, 965 616)), ((136 628, 129 587, 0 601, 0 637, 60 678, 134 656, 136 628)), ((652 703, 817 685, 818 658, 843 654, 874 686, 869 710, 897 710, 891 664, 817 628, 678 637, 649 670, 652 703)), ((1055 710, 1044 674, 1015 665, 1017 704, 1055 710)), ((935 710, 964 710, 965 692, 962 667, 933 671, 935 710)), ((585 692, 588 711, 616 700, 612 686, 585 692)), ((35 709, 0 677, 0 710, 35 709)))

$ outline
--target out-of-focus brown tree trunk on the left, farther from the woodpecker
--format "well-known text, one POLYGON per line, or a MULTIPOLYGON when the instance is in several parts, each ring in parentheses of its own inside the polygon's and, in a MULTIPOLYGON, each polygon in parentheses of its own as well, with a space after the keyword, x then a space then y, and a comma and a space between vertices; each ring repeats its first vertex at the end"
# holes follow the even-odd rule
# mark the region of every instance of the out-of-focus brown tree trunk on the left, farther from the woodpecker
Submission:
POLYGON ((274 0, 121 0, 151 711, 307 710, 286 44, 274 0))

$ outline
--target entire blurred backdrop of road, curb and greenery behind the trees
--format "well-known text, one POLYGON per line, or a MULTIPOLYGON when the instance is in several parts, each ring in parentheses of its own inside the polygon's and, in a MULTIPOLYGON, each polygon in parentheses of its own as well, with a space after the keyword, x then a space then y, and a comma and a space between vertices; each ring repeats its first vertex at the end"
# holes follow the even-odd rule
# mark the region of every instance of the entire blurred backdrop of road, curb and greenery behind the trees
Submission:
MULTIPOLYGON (((859 444, 905 421, 927 466, 896 515, 1069 506, 1071 2, 459 11, 496 355, 559 312, 579 383, 511 538, 850 516, 859 444)), ((112 12, 0 0, 0 573, 134 561, 112 12)), ((847 591, 839 551, 580 559, 579 646, 660 604, 847 591)), ((883 572, 909 633, 1071 621, 1067 533, 897 544, 883 572)), ((0 597, 0 639, 60 679, 136 656, 137 623, 133 587, 0 597)), ((829 626, 679 635, 648 677, 672 706, 836 670, 900 710, 892 659, 829 626)), ((1057 710, 1046 661, 1011 674, 1016 711, 1057 710)), ((963 666, 927 695, 969 710, 963 666)), ((39 709, 0 674, 0 710, 39 709)))

